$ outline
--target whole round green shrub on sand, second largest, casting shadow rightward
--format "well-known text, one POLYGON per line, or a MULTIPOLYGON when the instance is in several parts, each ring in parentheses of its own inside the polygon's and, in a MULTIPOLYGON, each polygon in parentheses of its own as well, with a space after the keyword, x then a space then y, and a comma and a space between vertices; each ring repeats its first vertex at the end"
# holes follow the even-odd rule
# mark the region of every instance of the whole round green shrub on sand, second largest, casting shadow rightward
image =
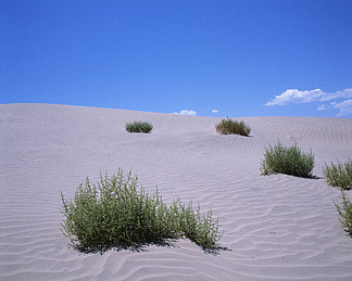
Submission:
POLYGON ((264 159, 262 161, 263 175, 287 174, 302 178, 312 177, 314 168, 314 155, 303 153, 294 143, 290 148, 282 145, 280 141, 269 148, 265 148, 264 159))

